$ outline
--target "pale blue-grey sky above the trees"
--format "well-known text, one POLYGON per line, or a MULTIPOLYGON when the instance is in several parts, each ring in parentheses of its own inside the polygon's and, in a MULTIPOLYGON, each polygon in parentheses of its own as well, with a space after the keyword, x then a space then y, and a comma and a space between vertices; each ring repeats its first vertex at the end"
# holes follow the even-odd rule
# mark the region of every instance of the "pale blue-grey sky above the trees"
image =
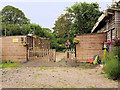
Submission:
POLYGON ((112 0, 2 0, 0 10, 6 5, 12 5, 22 10, 31 23, 39 24, 44 28, 54 27, 58 16, 64 14, 65 7, 72 6, 75 2, 97 2, 101 9, 107 9, 112 0))

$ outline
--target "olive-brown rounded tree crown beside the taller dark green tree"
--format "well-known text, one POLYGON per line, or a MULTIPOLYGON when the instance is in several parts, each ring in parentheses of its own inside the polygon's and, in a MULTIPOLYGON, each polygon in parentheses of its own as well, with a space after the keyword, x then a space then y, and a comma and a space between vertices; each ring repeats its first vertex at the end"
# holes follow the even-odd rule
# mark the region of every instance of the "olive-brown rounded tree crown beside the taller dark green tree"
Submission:
POLYGON ((61 14, 58 19, 55 21, 55 27, 53 27, 54 34, 58 38, 69 37, 71 30, 71 17, 68 13, 61 14))

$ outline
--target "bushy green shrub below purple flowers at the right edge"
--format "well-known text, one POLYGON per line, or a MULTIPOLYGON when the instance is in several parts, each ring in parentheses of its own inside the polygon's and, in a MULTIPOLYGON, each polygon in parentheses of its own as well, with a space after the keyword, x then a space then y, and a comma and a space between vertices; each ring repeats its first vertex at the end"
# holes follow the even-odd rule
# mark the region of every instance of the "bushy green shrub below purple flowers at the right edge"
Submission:
POLYGON ((109 78, 120 78, 120 48, 114 48, 106 57, 104 70, 109 78))

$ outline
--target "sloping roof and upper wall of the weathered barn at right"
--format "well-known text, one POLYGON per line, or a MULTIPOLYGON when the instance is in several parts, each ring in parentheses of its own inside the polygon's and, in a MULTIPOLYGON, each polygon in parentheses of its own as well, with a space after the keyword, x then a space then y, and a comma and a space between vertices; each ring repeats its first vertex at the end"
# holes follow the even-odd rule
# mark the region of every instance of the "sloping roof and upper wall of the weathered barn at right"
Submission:
POLYGON ((102 14, 93 29, 92 33, 107 33, 107 40, 120 37, 120 9, 107 9, 102 14))

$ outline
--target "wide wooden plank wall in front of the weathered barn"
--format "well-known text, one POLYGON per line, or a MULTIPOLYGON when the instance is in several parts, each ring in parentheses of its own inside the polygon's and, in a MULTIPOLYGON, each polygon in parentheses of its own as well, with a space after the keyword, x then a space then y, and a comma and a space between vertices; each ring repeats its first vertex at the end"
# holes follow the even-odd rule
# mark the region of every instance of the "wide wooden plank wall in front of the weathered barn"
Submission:
POLYGON ((102 58, 103 50, 101 42, 106 40, 106 33, 76 35, 79 43, 76 45, 76 60, 88 62, 95 55, 102 58))

